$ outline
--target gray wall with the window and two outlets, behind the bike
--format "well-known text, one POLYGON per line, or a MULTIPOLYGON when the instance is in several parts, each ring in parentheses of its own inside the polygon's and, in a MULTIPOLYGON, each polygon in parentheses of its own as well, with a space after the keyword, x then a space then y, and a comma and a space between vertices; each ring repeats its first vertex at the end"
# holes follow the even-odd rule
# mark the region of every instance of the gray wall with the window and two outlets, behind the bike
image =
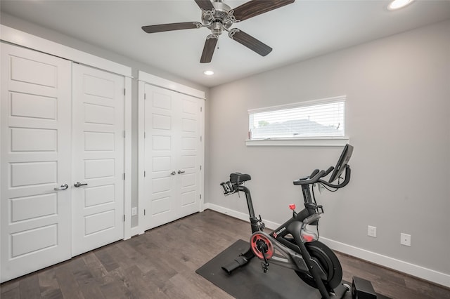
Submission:
POLYGON ((246 147, 248 109, 347 95, 352 180, 319 194, 321 236, 450 274, 450 21, 211 88, 206 200, 247 213, 219 182, 250 173, 256 213, 283 223, 292 181, 342 147, 246 147), (367 236, 367 225, 378 228, 367 236), (411 247, 400 233, 411 234, 411 247))

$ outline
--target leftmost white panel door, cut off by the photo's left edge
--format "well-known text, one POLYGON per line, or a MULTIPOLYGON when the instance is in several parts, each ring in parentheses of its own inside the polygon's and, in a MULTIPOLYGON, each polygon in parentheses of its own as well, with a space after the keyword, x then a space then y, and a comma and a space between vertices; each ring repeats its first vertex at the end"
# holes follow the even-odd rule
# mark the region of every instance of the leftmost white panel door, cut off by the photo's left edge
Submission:
POLYGON ((1 281, 71 256, 70 65, 1 44, 1 281))

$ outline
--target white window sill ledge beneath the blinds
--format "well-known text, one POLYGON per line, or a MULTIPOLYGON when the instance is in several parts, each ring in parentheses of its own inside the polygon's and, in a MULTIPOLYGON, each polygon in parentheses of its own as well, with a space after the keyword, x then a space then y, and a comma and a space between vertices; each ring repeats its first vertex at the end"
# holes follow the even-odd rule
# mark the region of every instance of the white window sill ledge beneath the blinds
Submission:
POLYGON ((343 147, 349 138, 258 139, 245 140, 248 147, 343 147))

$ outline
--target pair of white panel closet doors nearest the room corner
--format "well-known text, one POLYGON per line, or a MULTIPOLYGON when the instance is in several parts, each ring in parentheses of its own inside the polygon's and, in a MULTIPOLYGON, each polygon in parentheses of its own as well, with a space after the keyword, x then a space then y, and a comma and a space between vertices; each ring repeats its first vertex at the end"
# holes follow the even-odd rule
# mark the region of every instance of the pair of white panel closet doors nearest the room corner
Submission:
POLYGON ((200 100, 145 85, 148 230, 200 211, 200 100))

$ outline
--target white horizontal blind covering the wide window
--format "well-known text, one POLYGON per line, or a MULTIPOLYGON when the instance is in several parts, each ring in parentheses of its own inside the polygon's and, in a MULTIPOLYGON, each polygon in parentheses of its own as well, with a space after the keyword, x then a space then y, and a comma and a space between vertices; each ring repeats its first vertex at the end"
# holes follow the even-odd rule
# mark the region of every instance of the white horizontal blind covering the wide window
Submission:
POLYGON ((345 136, 345 97, 249 110, 249 139, 345 136))

